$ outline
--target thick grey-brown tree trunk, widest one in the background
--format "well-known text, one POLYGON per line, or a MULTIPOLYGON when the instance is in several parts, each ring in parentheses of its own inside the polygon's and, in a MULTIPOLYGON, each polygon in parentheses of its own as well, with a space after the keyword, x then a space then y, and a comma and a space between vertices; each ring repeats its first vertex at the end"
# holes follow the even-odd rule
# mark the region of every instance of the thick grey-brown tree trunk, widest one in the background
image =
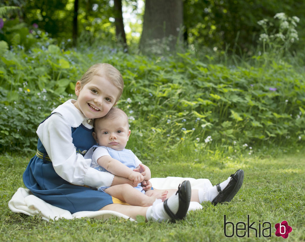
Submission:
POLYGON ((146 0, 140 49, 147 52, 149 46, 157 43, 174 49, 181 37, 182 25, 182 0, 146 0), (165 37, 169 37, 167 41, 165 37))

